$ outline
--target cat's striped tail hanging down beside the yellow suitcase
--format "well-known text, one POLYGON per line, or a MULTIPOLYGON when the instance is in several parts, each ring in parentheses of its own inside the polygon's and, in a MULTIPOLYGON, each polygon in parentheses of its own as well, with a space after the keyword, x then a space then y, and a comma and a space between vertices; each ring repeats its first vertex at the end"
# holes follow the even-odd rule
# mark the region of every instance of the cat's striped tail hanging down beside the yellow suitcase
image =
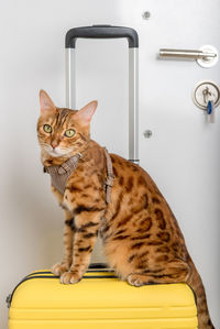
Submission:
POLYGON ((198 322, 199 322, 198 329, 215 329, 215 326, 212 325, 209 316, 206 292, 204 288, 201 277, 197 272, 196 266, 191 261, 191 259, 189 259, 189 262, 187 263, 191 268, 191 275, 189 276, 187 284, 195 292, 196 299, 197 299, 198 322))

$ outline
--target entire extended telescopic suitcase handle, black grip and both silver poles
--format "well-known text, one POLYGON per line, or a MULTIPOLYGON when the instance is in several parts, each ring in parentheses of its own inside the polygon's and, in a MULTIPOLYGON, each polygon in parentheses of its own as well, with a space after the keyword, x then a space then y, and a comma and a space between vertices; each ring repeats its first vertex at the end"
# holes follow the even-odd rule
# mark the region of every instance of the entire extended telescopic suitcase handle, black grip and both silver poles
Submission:
POLYGON ((112 25, 74 28, 66 33, 66 106, 76 106, 76 40, 128 39, 129 44, 129 160, 139 164, 139 35, 134 29, 112 25))

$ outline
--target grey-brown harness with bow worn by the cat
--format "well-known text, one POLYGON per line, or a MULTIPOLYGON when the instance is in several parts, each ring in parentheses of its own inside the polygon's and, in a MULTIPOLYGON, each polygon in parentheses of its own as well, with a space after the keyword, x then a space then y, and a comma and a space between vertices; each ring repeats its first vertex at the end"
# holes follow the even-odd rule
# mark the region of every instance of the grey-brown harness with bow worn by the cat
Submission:
MULTIPOLYGON (((107 204, 109 204, 111 200, 111 188, 113 186, 114 176, 113 176, 111 157, 106 147, 103 147, 103 151, 107 158, 107 180, 105 182, 106 201, 107 204)), ((51 175, 52 185, 61 194, 65 193, 66 182, 70 176, 70 174, 76 169, 81 154, 77 153, 76 155, 67 160, 65 163, 63 163, 61 166, 55 165, 55 166, 44 167, 44 173, 51 175)))

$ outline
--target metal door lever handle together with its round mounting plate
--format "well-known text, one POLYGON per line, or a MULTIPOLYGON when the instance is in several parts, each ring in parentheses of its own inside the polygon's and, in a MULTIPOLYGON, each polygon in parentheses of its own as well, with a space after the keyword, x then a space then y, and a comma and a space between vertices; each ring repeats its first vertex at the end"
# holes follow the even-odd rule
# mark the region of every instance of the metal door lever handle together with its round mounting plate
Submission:
POLYGON ((198 51, 161 48, 162 58, 196 59, 202 67, 213 66, 218 61, 218 52, 213 46, 202 46, 198 51))

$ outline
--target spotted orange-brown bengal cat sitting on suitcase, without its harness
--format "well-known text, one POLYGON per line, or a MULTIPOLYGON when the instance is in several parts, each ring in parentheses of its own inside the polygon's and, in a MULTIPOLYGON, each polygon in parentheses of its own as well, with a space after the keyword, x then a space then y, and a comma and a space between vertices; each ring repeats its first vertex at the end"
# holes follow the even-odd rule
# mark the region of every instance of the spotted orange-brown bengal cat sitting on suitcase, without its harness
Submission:
POLYGON ((57 108, 40 91, 37 136, 45 171, 79 154, 64 193, 52 191, 65 212, 64 259, 53 266, 63 284, 78 283, 86 272, 100 233, 109 265, 134 286, 187 283, 196 293, 199 329, 215 328, 201 278, 187 251, 177 221, 158 188, 140 166, 110 154, 113 166, 111 200, 105 150, 90 140, 97 101, 77 110, 57 108))

